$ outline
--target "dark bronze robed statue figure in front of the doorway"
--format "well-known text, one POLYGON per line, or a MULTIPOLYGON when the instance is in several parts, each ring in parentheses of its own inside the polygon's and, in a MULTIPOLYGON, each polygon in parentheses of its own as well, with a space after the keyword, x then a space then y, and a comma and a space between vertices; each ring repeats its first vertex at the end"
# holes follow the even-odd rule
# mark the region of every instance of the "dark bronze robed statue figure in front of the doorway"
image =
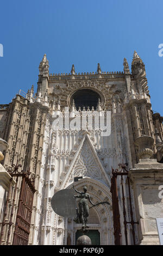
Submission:
MULTIPOLYGON (((74 186, 73 186, 74 188, 74 186)), ((87 218, 89 217, 89 205, 87 200, 89 200, 89 202, 93 205, 96 206, 95 204, 92 203, 91 199, 90 199, 90 195, 87 192, 87 187, 84 186, 83 187, 83 191, 84 192, 79 192, 77 191, 75 188, 74 190, 78 193, 77 195, 74 195, 74 197, 76 198, 80 198, 79 201, 79 209, 77 209, 77 217, 74 218, 74 221, 77 223, 82 223, 82 227, 87 227, 86 223, 87 223, 87 218)))

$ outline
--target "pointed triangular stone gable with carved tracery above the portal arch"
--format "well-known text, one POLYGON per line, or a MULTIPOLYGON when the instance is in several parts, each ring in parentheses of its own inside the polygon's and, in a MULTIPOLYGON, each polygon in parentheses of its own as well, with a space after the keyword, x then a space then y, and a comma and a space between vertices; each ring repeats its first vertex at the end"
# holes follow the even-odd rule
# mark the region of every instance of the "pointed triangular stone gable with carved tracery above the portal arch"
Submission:
POLYGON ((84 135, 77 152, 74 155, 74 159, 70 164, 70 168, 62 182, 61 188, 66 188, 72 184, 73 178, 77 176, 95 179, 106 186, 110 186, 108 175, 106 174, 87 133, 84 135))

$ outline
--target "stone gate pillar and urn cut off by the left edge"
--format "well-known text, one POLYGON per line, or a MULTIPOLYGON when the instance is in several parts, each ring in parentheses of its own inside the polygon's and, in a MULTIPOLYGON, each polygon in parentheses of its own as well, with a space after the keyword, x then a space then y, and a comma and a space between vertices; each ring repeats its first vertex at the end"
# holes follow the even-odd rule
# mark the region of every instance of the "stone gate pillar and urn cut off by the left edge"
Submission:
MULTIPOLYGON (((4 159, 3 151, 9 147, 9 144, 0 138, 0 162, 4 159)), ((11 179, 10 174, 7 170, 4 169, 2 164, 0 163, 0 212, 4 210, 5 204, 5 192, 9 190, 10 182, 12 185, 15 184, 15 181, 11 179)), ((1 215, 2 222, 3 214, 1 215)))

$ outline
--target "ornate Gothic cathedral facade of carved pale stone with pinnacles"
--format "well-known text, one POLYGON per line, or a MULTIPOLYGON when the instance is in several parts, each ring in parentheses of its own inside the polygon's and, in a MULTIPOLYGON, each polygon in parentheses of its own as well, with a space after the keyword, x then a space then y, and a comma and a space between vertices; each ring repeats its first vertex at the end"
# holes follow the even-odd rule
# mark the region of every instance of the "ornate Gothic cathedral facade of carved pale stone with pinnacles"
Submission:
MULTIPOLYGON (((0 105, 0 137, 9 144, 3 167, 21 164, 35 178, 28 245, 76 244, 80 224, 58 216, 51 207, 53 195, 73 185, 79 191, 86 185, 94 203, 110 203, 90 209, 88 225, 96 245, 114 245, 111 177, 120 163, 127 163, 130 179, 129 185, 127 176, 117 176, 121 242, 159 244, 155 218, 163 215, 163 199, 158 197, 163 118, 152 111, 139 55, 134 52, 131 72, 126 58, 123 66, 123 72, 102 72, 98 64, 96 72, 77 74, 72 65, 70 74, 52 75, 45 54, 36 94, 32 86, 27 94, 0 105), (108 133, 95 124, 96 116, 103 118, 108 133), (74 182, 78 176, 83 179, 74 182)), ((20 193, 21 178, 16 188, 12 186, 10 198, 4 195, 4 223, 10 219, 12 224, 3 227, 3 245, 13 244, 20 193)))

